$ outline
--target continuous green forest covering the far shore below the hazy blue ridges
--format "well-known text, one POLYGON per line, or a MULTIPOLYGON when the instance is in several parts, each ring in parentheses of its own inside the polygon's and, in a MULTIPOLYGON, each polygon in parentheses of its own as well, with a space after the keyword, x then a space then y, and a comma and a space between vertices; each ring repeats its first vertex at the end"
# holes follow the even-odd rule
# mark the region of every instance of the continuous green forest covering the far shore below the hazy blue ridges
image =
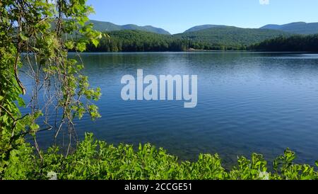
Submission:
MULTIPOLYGON (((237 30, 237 29, 235 29, 237 30)), ((238 28, 240 31, 240 28, 238 28)), ((257 31, 258 32, 258 31, 257 31)), ((88 52, 179 52, 187 50, 258 50, 298 51, 318 50, 318 35, 290 35, 275 30, 261 34, 254 30, 235 33, 231 30, 208 29, 179 35, 162 35, 141 30, 116 30, 107 34, 88 52), (213 30, 213 32, 211 32, 213 30), (218 35, 218 33, 223 35, 218 35), (274 33, 273 33, 274 32, 274 33), (235 34, 232 34, 235 33, 235 34), (241 37, 242 36, 242 37, 241 37)))

